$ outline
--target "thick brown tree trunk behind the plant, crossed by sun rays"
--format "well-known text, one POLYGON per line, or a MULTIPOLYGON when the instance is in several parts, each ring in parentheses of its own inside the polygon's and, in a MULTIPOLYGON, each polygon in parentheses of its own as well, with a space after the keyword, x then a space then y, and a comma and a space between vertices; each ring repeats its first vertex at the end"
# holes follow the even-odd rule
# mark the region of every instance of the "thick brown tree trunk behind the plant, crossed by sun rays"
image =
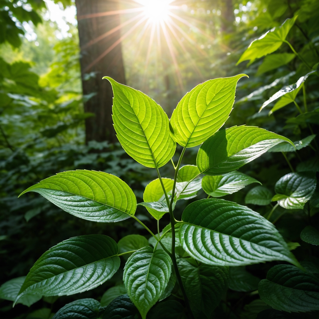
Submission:
POLYGON ((86 142, 108 140, 114 143, 117 142, 117 138, 111 116, 113 92, 108 80, 102 80, 102 77, 109 76, 125 84, 125 73, 122 46, 118 41, 121 30, 103 37, 106 32, 120 24, 120 16, 118 14, 103 16, 103 12, 118 10, 117 1, 76 0, 75 3, 81 47, 83 95, 90 97, 95 94, 84 103, 85 112, 95 114, 94 117, 85 120, 85 140, 86 142), (98 37, 100 40, 94 41, 98 37), (116 41, 119 44, 107 53, 116 41))

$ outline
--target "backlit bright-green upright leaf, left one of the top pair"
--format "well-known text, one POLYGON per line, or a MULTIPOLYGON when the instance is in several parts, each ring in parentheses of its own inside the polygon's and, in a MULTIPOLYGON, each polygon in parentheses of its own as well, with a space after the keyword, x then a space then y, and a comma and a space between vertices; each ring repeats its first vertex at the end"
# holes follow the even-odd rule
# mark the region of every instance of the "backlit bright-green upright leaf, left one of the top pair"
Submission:
POLYGON ((125 152, 146 167, 162 167, 174 155, 176 143, 163 109, 146 94, 117 83, 113 88, 112 118, 125 152))

